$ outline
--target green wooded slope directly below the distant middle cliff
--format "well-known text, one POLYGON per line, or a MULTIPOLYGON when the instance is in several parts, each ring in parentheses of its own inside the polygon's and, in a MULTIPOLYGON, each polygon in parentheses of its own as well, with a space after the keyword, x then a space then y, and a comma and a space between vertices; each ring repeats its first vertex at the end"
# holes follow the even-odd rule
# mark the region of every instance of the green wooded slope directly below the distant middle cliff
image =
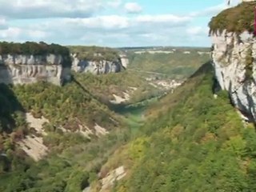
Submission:
POLYGON ((162 94, 162 90, 149 85, 140 75, 133 71, 122 71, 118 74, 75 74, 78 82, 82 82, 90 93, 94 93, 102 101, 113 100, 113 94, 124 98, 124 93, 130 95, 126 104, 140 102, 162 94), (135 88, 135 90, 134 90, 135 88))

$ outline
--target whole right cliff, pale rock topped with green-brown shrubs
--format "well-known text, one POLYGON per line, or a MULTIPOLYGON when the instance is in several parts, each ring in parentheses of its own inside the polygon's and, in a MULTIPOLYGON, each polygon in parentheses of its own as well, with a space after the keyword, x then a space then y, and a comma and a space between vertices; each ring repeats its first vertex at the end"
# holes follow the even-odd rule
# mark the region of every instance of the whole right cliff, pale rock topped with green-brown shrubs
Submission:
POLYGON ((256 121, 255 2, 222 11, 210 22, 215 77, 222 90, 250 121, 256 121))

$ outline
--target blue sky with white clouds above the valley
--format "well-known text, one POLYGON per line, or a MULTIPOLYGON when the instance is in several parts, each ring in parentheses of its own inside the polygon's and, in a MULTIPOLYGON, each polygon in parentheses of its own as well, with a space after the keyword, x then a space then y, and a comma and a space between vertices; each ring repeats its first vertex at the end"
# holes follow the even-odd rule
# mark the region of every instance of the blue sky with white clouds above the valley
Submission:
MULTIPOLYGON (((82 46, 210 46, 226 0, 0 0, 0 41, 82 46)), ((231 1, 230 6, 238 3, 231 1)))

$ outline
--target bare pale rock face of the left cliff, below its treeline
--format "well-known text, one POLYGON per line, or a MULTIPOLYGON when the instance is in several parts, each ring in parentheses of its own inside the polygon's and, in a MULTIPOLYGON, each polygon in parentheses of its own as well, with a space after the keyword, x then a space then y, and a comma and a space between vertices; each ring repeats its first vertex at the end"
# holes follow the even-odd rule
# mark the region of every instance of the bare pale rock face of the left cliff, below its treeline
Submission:
POLYGON ((0 55, 0 83, 24 84, 44 80, 56 85, 70 80, 70 58, 57 54, 0 55))

